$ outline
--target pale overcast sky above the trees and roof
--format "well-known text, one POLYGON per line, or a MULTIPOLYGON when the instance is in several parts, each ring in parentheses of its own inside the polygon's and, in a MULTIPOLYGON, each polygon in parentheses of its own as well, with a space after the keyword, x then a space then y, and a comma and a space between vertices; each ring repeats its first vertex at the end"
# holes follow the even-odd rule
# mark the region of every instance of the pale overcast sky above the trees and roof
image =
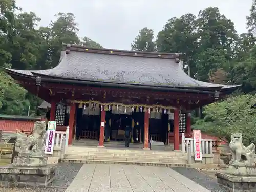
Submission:
POLYGON ((23 11, 34 12, 41 26, 48 26, 54 15, 74 13, 80 37, 90 37, 105 48, 131 50, 139 30, 148 27, 155 35, 167 20, 186 13, 198 15, 207 7, 218 7, 231 19, 238 33, 246 32, 246 16, 251 0, 16 0, 23 11))

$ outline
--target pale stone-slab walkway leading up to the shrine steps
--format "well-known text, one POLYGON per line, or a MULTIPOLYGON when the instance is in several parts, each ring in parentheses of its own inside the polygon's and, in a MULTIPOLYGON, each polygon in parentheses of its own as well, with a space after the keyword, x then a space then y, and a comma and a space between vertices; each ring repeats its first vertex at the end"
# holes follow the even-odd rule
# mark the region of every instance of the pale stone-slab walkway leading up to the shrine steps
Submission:
POLYGON ((210 192, 167 167, 84 164, 66 192, 210 192))

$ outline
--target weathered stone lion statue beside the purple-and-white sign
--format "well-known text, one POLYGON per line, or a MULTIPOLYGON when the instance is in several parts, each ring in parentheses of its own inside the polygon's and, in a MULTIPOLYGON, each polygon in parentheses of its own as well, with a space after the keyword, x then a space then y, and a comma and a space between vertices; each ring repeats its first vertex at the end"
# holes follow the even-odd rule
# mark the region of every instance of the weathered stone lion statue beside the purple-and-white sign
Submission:
POLYGON ((15 150, 19 152, 19 156, 45 156, 42 150, 46 142, 47 132, 44 121, 36 121, 33 133, 29 136, 22 132, 17 133, 15 150))

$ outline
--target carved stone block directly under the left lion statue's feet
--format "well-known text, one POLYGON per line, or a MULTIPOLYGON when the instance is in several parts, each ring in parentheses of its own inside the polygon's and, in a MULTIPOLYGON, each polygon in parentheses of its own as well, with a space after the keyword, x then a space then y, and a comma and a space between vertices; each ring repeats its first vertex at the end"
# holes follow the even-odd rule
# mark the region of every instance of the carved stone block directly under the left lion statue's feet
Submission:
POLYGON ((46 166, 46 156, 16 156, 13 159, 13 166, 29 166, 29 167, 42 167, 46 166))

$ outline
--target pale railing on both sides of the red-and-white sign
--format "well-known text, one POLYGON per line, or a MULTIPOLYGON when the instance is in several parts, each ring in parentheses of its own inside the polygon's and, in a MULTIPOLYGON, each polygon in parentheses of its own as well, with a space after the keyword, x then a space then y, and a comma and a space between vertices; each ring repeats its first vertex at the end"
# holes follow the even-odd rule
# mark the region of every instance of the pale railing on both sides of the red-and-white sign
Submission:
MULTIPOLYGON (((181 141, 181 150, 183 153, 187 152, 187 144, 190 142, 191 144, 191 152, 194 153, 194 140, 193 138, 185 138, 184 133, 182 134, 182 141, 181 141)), ((217 140, 213 139, 201 139, 201 146, 202 146, 202 154, 213 154, 212 146, 214 143, 218 142, 217 140)))

